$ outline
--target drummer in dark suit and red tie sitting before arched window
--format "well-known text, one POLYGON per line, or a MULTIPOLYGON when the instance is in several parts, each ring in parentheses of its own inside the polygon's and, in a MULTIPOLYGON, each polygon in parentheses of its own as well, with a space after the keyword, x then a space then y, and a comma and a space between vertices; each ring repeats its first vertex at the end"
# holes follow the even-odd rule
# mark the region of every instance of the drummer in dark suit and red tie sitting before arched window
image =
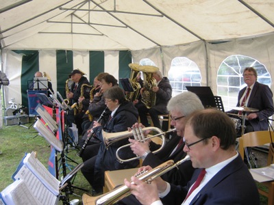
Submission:
MULTIPOLYGON (((247 112, 245 120, 245 133, 253 131, 267 131, 269 128, 269 117, 273 115, 273 93, 269 86, 258 83, 258 74, 252 67, 245 68, 243 72, 244 81, 247 87, 240 90, 238 94, 237 107, 251 107, 258 109, 258 112, 247 112), (247 90, 250 88, 249 95, 247 90), (247 96, 247 97, 246 97, 247 96), (242 102, 242 101, 245 102, 242 102)), ((227 113, 238 114, 238 111, 232 110, 227 113)))

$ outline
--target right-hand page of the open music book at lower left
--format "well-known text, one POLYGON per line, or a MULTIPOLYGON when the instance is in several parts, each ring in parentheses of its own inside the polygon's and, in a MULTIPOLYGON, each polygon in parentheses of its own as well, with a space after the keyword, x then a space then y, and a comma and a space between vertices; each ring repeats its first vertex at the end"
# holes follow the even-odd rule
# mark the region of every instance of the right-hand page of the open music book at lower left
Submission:
POLYGON ((23 163, 29 168, 32 173, 55 195, 59 195, 60 181, 53 177, 38 159, 36 159, 34 152, 27 154, 23 163))

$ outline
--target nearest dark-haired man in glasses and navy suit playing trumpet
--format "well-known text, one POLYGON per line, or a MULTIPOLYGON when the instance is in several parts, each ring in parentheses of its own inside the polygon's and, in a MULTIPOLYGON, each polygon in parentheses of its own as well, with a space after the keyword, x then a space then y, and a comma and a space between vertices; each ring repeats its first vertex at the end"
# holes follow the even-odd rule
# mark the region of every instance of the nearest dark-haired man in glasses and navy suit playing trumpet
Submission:
POLYGON ((160 177, 151 184, 134 176, 132 183, 125 179, 125 185, 141 204, 260 204, 256 183, 235 150, 234 124, 225 113, 208 109, 192 114, 184 141, 184 151, 192 166, 198 168, 188 185, 175 186, 160 177), (198 175, 201 183, 190 193, 198 175))

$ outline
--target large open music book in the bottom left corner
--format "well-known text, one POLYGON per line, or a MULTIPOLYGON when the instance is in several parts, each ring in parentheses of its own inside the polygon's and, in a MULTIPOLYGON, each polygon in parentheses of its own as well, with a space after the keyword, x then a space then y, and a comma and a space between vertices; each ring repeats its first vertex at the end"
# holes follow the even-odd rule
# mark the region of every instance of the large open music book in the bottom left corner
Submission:
POLYGON ((0 204, 57 204, 60 181, 54 178, 35 153, 26 154, 12 175, 14 182, 0 195, 0 204))

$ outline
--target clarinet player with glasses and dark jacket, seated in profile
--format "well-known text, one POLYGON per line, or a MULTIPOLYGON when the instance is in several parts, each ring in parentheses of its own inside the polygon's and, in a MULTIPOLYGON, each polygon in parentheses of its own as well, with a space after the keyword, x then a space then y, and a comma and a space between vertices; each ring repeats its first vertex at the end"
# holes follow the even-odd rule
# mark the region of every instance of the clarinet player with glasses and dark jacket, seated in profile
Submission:
MULTIPOLYGON (((138 160, 129 163, 119 163, 119 161, 116 160, 116 150, 128 143, 127 139, 116 141, 106 149, 102 135, 102 131, 107 133, 127 131, 128 127, 137 122, 137 109, 132 102, 125 100, 125 94, 119 86, 110 87, 103 93, 103 97, 105 99, 105 105, 112 113, 104 127, 98 122, 94 122, 93 131, 101 141, 99 152, 96 156, 84 161, 84 167, 81 169, 82 174, 96 193, 103 191, 105 170, 132 168, 136 167, 139 163, 138 160)), ((97 146, 97 144, 91 146, 97 146)), ((134 154, 130 152, 129 147, 121 151, 121 157, 123 159, 128 159, 133 156, 134 154)))

